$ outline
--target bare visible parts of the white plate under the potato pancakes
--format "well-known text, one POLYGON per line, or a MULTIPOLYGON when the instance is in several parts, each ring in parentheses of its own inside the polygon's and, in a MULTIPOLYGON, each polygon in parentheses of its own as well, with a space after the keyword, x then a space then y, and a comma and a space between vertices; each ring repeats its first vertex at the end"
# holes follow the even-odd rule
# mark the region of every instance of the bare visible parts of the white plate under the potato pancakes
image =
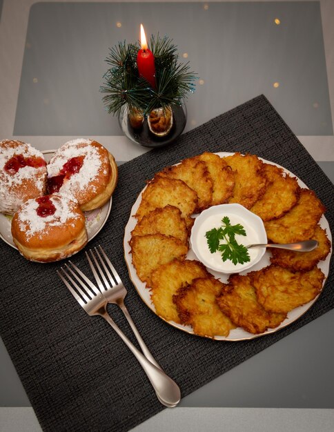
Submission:
MULTIPOLYGON (((234 153, 217 153, 217 155, 219 155, 220 157, 226 157, 226 156, 230 156, 233 154, 234 153)), ((259 158, 259 159, 262 159, 262 158, 259 158)), ((304 182, 302 180, 298 179, 298 177, 296 175, 294 175, 290 171, 286 170, 284 167, 282 167, 278 164, 275 164, 274 162, 267 161, 266 159, 262 159, 262 161, 264 161, 266 164, 272 164, 272 165, 278 166, 279 168, 283 168, 285 173, 297 178, 299 186, 301 186, 302 188, 307 188, 306 184, 304 184, 304 182)), ((143 191, 141 191, 141 193, 142 192, 143 191)), ((135 225, 137 224, 137 219, 134 217, 134 215, 137 213, 137 209, 138 209, 139 204, 141 202, 141 193, 137 197, 135 204, 133 204, 133 206, 132 206, 130 218, 128 219, 128 224, 126 224, 126 228, 125 228, 125 232, 124 232, 124 255, 125 255, 126 264, 128 266, 130 279, 132 280, 132 283, 135 285, 135 288, 137 289, 137 292, 139 293, 141 300, 143 300, 147 304, 147 306, 151 309, 151 311, 156 313, 155 306, 154 306, 152 300, 150 299, 150 291, 146 288, 146 285, 143 282, 141 282, 141 280, 137 276, 137 272, 135 270, 135 267, 132 265, 132 255, 131 255, 131 251, 130 251, 130 246, 128 244, 128 242, 130 241, 130 238, 131 238, 131 231, 135 228, 135 225)), ((196 217, 196 216, 197 215, 193 215, 193 217, 196 217)), ((320 226, 322 228, 326 229, 327 237, 332 242, 331 230, 329 228, 327 219, 324 217, 324 215, 322 215, 322 218, 320 219, 320 226)), ((271 256, 271 254, 266 252, 264 254, 264 257, 262 257, 261 261, 259 261, 257 264, 255 264, 254 267, 252 267, 251 271, 260 270, 261 268, 264 268, 264 267, 268 266, 269 264, 271 264, 270 256, 271 256)), ((197 257, 195 257, 195 254, 193 253, 191 248, 189 249, 186 258, 187 259, 197 259, 197 257)), ((317 264, 317 266, 320 268, 322 273, 324 273, 324 275, 325 275, 324 283, 326 282, 326 277, 328 276, 330 260, 331 260, 331 253, 328 254, 328 256, 326 257, 326 259, 324 261, 320 261, 320 263, 317 264)), ((210 269, 208 269, 208 271, 210 273, 212 273, 221 282, 223 282, 223 283, 227 282, 228 275, 224 275, 222 273, 217 273, 215 271, 210 271, 210 269)), ((244 273, 240 273, 240 274, 245 275, 246 273, 247 273, 247 271, 245 271, 244 273)), ((323 286, 324 286, 324 284, 323 284, 323 286)), ((319 297, 319 295, 317 297, 319 297)), ((243 328, 237 327, 237 328, 231 330, 230 334, 227 337, 216 335, 215 340, 227 340, 227 341, 248 340, 248 339, 255 339, 255 337, 259 337, 259 336, 268 335, 270 333, 275 333, 280 328, 288 326, 289 324, 291 324, 292 322, 297 320, 299 317, 304 315, 304 313, 317 300, 317 297, 315 297, 315 299, 313 299, 311 302, 308 302, 307 304, 304 304, 303 306, 299 306, 298 308, 293 309, 293 311, 290 311, 288 313, 288 316, 286 317, 286 319, 276 328, 269 328, 264 333, 259 333, 257 335, 253 335, 253 333, 248 333, 247 331, 244 331, 243 328)), ((164 317, 161 317, 161 319, 164 320, 164 317)), ((166 320, 164 320, 164 321, 166 321, 166 320)), ((173 321, 166 321, 166 322, 168 322, 168 324, 170 324, 174 327, 179 328, 182 331, 186 331, 186 333, 195 334, 193 332, 193 328, 190 326, 184 326, 183 324, 178 324, 178 323, 173 322, 173 321)))

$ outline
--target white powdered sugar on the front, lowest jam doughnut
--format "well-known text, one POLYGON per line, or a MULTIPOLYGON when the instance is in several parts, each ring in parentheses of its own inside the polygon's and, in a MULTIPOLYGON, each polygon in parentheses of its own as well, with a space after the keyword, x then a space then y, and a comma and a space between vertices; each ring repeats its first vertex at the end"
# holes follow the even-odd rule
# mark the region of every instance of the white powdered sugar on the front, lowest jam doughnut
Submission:
POLYGON ((39 203, 36 199, 29 199, 21 208, 18 214, 20 229, 26 231, 28 238, 38 233, 45 233, 50 226, 61 226, 66 224, 68 219, 77 219, 80 217, 79 213, 72 211, 72 203, 66 197, 50 195, 50 200, 55 206, 56 211, 53 215, 46 217, 37 215, 39 203))

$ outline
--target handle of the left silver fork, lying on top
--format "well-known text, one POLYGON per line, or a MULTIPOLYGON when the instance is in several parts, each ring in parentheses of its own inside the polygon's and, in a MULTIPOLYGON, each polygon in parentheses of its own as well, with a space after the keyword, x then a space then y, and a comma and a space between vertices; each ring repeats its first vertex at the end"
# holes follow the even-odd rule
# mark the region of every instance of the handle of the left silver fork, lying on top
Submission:
POLYGON ((149 362, 147 358, 135 347, 135 345, 128 340, 126 335, 121 331, 121 329, 115 324, 112 318, 108 315, 106 311, 99 313, 110 326, 116 331, 117 335, 121 337, 121 340, 128 346, 130 351, 135 355, 141 367, 144 369, 150 383, 155 389, 158 400, 161 404, 168 406, 168 408, 173 408, 181 400, 181 392, 179 386, 174 382, 164 371, 157 368, 154 364, 149 362))

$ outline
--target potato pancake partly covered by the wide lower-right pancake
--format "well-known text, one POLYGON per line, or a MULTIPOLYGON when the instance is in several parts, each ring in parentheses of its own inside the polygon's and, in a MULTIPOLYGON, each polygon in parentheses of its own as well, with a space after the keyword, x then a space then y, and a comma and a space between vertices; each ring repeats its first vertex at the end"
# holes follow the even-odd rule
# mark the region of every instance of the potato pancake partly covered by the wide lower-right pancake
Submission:
POLYGON ((236 326, 253 334, 275 328, 286 318, 286 313, 271 313, 259 304, 248 275, 231 275, 217 297, 217 304, 236 326))

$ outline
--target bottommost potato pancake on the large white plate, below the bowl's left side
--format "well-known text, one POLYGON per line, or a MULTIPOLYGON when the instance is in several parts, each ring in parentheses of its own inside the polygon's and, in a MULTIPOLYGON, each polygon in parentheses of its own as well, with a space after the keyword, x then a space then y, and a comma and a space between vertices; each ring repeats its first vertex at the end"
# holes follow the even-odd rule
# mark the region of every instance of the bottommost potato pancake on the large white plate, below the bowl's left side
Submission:
POLYGON ((222 286, 222 282, 214 277, 198 278, 191 284, 181 286, 173 295, 181 323, 192 326, 196 335, 228 336, 230 330, 235 328, 216 303, 222 286))

